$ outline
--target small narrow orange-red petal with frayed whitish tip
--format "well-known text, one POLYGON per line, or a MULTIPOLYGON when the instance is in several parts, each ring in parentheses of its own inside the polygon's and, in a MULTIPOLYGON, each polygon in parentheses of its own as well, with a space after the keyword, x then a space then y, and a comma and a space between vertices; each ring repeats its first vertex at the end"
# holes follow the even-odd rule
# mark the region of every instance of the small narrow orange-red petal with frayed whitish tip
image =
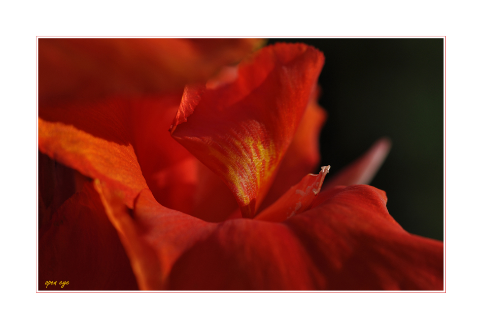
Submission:
POLYGON ((330 166, 322 167, 318 175, 307 174, 295 186, 291 187, 281 198, 264 209, 254 219, 268 222, 283 222, 312 206, 320 192, 323 180, 330 166))

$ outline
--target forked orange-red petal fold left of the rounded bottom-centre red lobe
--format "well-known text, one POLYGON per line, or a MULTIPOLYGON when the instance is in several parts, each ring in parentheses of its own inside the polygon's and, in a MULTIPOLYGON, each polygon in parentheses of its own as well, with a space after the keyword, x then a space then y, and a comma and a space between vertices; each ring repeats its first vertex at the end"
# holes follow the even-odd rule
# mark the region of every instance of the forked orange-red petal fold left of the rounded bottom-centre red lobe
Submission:
POLYGON ((166 289, 176 260, 214 228, 214 224, 163 207, 147 189, 136 200, 133 218, 115 191, 98 180, 95 189, 121 237, 139 287, 144 290, 166 289))

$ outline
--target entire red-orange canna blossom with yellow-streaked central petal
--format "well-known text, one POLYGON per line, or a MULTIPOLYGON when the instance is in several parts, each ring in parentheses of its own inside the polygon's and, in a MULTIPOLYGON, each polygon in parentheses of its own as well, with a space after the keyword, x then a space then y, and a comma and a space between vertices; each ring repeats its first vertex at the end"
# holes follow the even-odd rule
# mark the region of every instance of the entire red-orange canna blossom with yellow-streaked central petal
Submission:
POLYGON ((259 46, 39 40, 40 289, 443 289, 363 185, 389 141, 312 174, 323 53, 259 46))

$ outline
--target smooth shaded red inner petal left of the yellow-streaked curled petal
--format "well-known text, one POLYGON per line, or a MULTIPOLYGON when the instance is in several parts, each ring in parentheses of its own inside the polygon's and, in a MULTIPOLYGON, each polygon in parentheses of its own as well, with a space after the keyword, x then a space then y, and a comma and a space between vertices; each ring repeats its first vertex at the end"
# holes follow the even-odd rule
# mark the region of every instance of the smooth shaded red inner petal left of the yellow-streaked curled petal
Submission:
POLYGON ((135 154, 156 200, 168 208, 192 211, 197 186, 197 162, 169 134, 181 94, 132 102, 135 154))

